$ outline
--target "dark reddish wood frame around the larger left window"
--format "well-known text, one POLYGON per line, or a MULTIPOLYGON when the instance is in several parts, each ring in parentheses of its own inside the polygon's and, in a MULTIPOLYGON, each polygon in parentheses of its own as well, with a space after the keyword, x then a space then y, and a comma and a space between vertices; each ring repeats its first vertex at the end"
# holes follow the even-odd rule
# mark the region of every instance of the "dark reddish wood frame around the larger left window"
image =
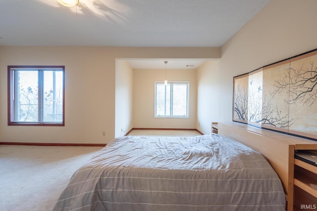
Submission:
MULTIPOLYGON (((39 73, 39 71, 38 71, 39 73)), ((16 83, 16 82, 13 82, 16 83)), ((8 126, 65 126, 65 66, 36 66, 36 65, 30 65, 30 66, 19 66, 19 65, 14 65, 14 66, 7 66, 7 106, 8 106, 8 126), (62 70, 62 94, 63 94, 63 99, 62 99, 62 122, 16 122, 16 121, 12 121, 11 120, 11 112, 14 112, 14 108, 13 106, 14 103, 12 102, 12 97, 15 94, 13 92, 13 86, 14 84, 12 84, 13 80, 15 80, 15 78, 13 78, 13 70, 14 69, 34 69, 34 70, 41 70, 41 69, 61 69, 62 70), (12 106, 12 110, 11 110, 11 106, 12 106)), ((39 88, 41 89, 41 88, 39 88)), ((39 96, 40 100, 42 100, 41 96, 39 96)), ((41 103, 43 104, 43 103, 41 103)), ((39 106, 39 103, 38 103, 39 106)), ((39 112, 39 114, 43 114, 43 112, 39 112)))

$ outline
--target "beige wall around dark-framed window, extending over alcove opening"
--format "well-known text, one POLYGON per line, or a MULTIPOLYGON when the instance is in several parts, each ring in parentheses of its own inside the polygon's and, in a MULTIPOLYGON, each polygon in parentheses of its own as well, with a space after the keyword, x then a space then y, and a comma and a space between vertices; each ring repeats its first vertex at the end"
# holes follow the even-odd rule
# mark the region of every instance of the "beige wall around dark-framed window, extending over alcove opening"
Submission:
POLYGON ((0 142, 107 143, 115 136, 116 58, 219 57, 209 47, 0 46, 0 142), (65 127, 7 126, 8 65, 65 65, 65 127))

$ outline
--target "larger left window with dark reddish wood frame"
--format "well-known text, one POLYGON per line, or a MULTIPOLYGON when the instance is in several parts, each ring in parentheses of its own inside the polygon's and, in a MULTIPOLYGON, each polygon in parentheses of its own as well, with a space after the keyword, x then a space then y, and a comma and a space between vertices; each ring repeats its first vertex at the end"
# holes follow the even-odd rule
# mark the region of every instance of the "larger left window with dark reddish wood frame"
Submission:
POLYGON ((8 66, 8 125, 64 126, 64 66, 8 66))

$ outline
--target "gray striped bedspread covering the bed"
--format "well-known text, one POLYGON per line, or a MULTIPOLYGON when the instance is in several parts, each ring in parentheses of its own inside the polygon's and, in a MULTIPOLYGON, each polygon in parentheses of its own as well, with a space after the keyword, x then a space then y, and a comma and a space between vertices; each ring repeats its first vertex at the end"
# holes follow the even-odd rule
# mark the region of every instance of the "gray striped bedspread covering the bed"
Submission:
POLYGON ((123 136, 78 169, 53 211, 282 211, 281 181, 226 137, 123 136))

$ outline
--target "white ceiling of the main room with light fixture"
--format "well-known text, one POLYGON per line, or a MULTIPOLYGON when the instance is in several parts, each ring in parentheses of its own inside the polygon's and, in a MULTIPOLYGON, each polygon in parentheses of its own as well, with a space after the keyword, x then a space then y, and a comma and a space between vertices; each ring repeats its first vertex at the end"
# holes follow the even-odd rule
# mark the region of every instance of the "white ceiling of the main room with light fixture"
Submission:
POLYGON ((0 46, 220 47, 268 2, 0 0, 0 46))

